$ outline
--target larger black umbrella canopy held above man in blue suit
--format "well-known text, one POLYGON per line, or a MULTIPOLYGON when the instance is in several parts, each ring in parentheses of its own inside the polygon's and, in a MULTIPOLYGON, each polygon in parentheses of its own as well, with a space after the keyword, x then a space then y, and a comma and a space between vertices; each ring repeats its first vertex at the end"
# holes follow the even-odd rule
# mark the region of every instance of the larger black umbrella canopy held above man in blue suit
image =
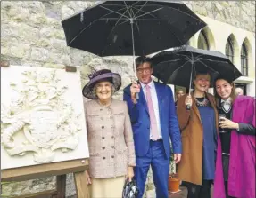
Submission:
POLYGON ((180 46, 205 26, 186 4, 153 1, 106 1, 62 21, 68 46, 99 56, 180 46))

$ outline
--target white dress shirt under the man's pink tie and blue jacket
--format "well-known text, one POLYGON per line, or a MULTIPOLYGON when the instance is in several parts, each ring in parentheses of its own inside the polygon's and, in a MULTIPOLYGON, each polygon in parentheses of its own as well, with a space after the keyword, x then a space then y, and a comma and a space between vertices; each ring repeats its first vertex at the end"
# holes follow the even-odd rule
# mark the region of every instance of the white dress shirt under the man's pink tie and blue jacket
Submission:
MULTIPOLYGON (((157 124, 157 132, 158 132, 159 137, 161 139, 162 136, 161 136, 161 125, 160 125, 160 117, 159 117, 158 98, 157 98, 157 94, 156 94, 156 90, 155 90, 153 80, 148 84, 141 83, 142 90, 143 90, 144 95, 145 95, 145 99, 146 99, 146 91, 145 91, 145 86, 146 85, 148 85, 150 87, 151 97, 152 97, 152 102, 153 102, 153 112, 154 112, 155 119, 156 119, 156 124, 157 124)), ((150 133, 150 139, 153 139, 152 132, 150 133)))

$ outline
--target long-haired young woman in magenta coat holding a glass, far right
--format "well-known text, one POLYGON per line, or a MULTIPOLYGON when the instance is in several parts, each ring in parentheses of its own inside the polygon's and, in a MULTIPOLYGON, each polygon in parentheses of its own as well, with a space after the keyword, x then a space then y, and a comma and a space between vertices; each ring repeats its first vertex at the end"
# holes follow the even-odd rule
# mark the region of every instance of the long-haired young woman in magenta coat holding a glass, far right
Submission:
POLYGON ((236 96, 235 84, 219 76, 214 84, 219 138, 214 198, 255 198, 255 99, 236 96))

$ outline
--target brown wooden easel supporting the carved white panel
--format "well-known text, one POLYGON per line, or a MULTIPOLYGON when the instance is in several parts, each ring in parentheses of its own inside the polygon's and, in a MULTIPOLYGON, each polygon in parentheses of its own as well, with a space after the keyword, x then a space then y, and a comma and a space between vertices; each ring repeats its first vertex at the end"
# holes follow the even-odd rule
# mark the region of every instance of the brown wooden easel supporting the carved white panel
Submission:
POLYGON ((66 189, 66 174, 73 173, 78 198, 89 198, 86 172, 88 160, 73 160, 66 162, 45 163, 35 166, 21 167, 9 170, 2 170, 2 181, 24 181, 35 178, 57 176, 56 190, 40 192, 37 194, 26 194, 16 198, 64 198, 66 189))

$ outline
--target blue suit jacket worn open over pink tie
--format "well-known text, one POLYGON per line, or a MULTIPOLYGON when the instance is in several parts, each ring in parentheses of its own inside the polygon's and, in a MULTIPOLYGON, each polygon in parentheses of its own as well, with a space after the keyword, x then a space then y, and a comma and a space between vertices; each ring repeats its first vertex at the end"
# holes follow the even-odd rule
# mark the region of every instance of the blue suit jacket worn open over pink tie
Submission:
MULTIPOLYGON (((169 158, 171 154, 169 139, 171 139, 173 152, 181 154, 181 138, 178 126, 178 118, 174 106, 172 91, 163 83, 156 83, 155 89, 158 98, 159 114, 161 122, 161 134, 165 154, 169 158)), ((132 123, 136 156, 144 156, 150 145, 150 118, 145 95, 141 89, 136 104, 131 100, 130 85, 124 89, 123 98, 128 103, 128 112, 132 123)))

